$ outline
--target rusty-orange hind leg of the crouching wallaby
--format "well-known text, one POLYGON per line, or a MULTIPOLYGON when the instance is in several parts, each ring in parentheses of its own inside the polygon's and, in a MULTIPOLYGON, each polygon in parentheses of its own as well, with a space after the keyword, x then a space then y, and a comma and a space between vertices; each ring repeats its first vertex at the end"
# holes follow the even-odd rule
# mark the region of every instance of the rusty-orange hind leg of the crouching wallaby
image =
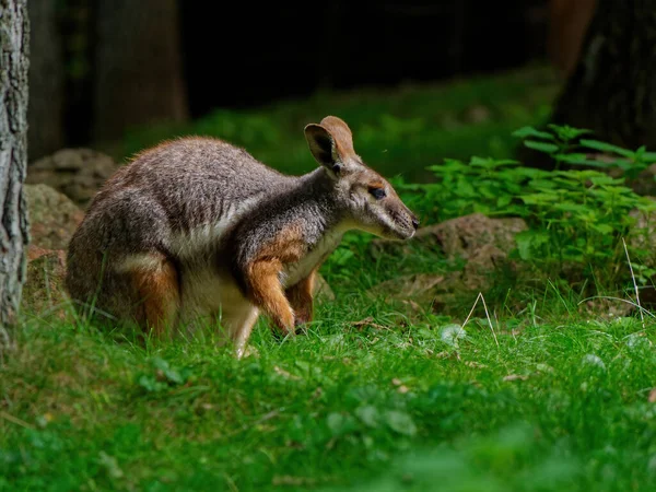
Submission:
POLYGON ((138 305, 134 317, 140 326, 162 336, 177 321, 180 308, 178 271, 164 255, 138 258, 129 271, 138 305))

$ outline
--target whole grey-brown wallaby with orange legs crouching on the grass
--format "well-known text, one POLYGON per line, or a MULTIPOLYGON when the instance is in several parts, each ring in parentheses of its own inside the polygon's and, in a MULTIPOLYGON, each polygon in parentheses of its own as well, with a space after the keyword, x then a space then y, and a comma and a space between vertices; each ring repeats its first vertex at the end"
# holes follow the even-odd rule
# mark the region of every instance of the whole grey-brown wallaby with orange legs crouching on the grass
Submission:
POLYGON ((343 233, 407 239, 419 222, 328 116, 305 127, 320 166, 286 176, 242 149, 181 138, 139 154, 98 191, 73 235, 77 304, 162 333, 206 319, 237 356, 258 315, 283 333, 312 320, 317 269, 343 233))

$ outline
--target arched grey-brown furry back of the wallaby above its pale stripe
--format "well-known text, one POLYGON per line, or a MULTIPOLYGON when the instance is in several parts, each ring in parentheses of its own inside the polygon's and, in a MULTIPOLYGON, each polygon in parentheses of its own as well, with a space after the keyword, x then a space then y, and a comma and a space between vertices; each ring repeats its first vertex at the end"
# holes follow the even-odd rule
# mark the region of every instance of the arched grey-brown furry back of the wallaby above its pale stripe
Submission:
POLYGON ((89 214, 130 202, 144 212, 161 210, 173 231, 187 231, 230 214, 246 200, 283 192, 293 180, 221 140, 185 138, 138 155, 107 181, 89 214))

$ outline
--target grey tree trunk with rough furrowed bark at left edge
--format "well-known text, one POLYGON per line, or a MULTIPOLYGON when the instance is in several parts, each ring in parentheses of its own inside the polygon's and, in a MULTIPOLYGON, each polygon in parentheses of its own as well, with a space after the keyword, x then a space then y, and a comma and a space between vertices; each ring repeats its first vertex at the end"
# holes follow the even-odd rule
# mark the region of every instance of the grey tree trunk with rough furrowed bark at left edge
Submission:
POLYGON ((27 0, 0 0, 0 356, 25 279, 28 66, 27 0))

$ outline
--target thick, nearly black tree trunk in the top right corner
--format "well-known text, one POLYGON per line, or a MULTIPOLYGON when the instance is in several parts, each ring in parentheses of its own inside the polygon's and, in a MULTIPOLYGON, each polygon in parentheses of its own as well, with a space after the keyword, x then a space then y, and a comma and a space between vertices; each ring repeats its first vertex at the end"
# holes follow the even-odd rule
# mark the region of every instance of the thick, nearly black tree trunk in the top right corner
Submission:
POLYGON ((598 0, 552 122, 656 150, 656 0, 598 0))

